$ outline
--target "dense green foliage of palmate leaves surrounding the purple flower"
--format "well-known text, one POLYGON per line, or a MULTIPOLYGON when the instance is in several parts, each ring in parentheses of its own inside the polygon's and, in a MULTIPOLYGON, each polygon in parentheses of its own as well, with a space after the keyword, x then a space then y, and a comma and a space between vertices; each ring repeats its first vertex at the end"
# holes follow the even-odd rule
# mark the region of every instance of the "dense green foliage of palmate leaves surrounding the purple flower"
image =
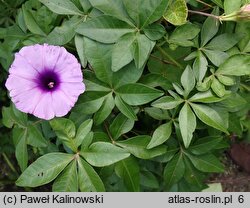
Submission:
POLYGON ((250 2, 201 2, 0 1, 0 153, 15 153, 16 185, 201 191, 223 172, 231 139, 250 141, 250 24, 216 17, 250 2), (65 118, 39 120, 8 98, 14 53, 36 43, 82 65, 86 92, 65 118))

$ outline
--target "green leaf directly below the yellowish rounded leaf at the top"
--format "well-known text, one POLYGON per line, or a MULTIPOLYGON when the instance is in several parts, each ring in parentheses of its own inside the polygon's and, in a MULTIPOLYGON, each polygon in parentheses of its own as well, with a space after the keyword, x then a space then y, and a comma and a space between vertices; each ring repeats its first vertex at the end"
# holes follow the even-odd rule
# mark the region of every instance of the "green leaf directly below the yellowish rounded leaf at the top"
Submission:
POLYGON ((177 27, 170 35, 169 43, 183 47, 193 46, 193 39, 199 34, 200 28, 195 24, 187 23, 177 27))

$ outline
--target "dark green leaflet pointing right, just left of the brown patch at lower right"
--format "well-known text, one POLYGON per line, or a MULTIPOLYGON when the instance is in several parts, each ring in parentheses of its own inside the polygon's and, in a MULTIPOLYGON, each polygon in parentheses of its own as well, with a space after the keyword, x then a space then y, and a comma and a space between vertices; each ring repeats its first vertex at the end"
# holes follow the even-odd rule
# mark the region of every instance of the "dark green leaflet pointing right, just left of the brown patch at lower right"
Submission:
POLYGON ((213 154, 205 154, 199 156, 188 154, 187 156, 193 163, 194 167, 202 172, 224 172, 223 165, 213 154))

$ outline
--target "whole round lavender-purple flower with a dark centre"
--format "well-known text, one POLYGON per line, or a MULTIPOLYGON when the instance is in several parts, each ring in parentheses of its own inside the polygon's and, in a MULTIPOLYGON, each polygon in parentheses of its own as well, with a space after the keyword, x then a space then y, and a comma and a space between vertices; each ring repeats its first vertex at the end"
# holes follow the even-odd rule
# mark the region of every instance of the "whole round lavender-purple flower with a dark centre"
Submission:
POLYGON ((85 91, 77 59, 47 44, 16 53, 5 85, 17 109, 46 120, 66 115, 85 91))

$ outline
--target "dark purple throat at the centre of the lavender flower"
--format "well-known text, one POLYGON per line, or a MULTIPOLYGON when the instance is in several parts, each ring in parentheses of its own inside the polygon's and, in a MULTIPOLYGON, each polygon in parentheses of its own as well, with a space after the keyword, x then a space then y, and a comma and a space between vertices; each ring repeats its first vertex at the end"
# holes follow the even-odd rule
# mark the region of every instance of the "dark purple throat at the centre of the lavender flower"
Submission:
POLYGON ((57 73, 45 70, 38 76, 39 88, 43 91, 54 91, 60 85, 60 78, 57 73))

